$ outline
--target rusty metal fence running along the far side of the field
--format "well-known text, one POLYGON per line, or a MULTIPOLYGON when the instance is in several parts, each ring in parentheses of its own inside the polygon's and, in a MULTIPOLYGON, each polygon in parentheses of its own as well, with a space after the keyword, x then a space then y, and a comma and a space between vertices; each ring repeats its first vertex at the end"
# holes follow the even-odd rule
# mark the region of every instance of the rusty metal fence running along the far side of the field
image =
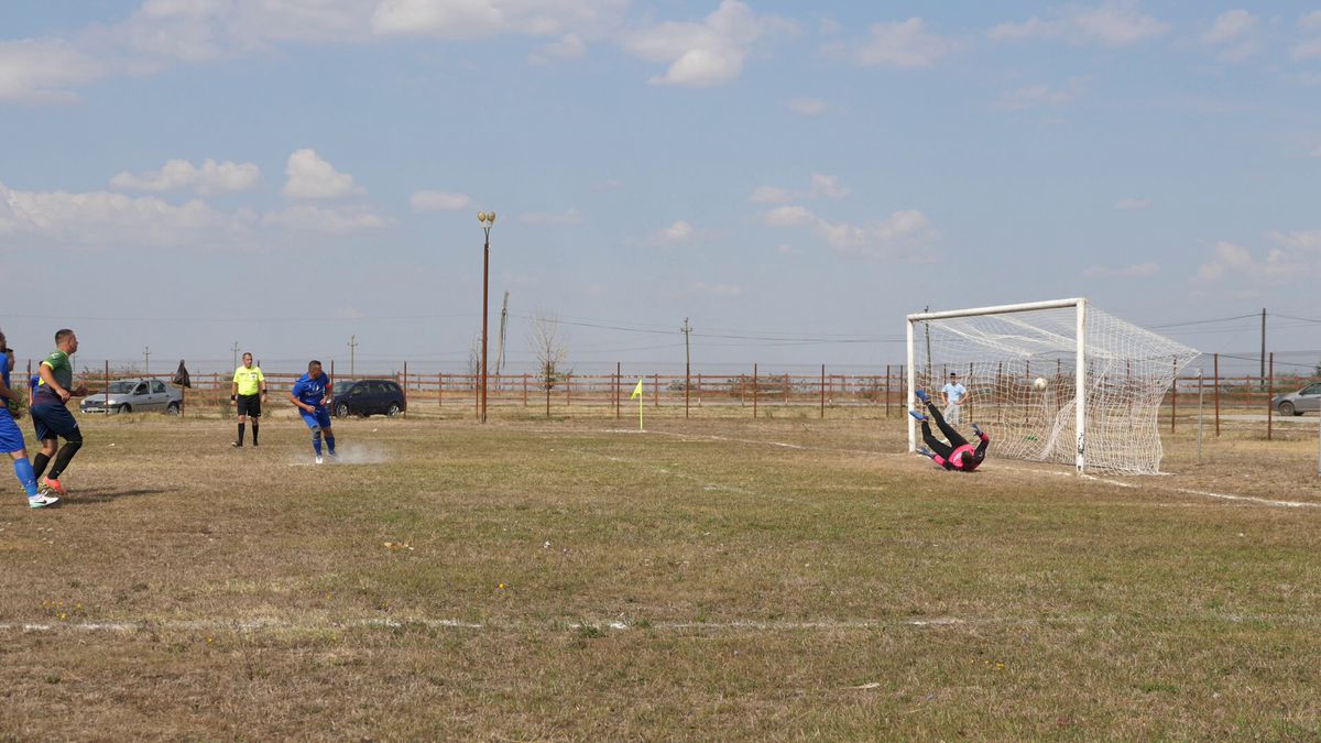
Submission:
MULTIPOLYGON (((1219 369, 1219 358, 1213 356, 1213 372, 1219 369)), ((28 373, 33 365, 29 362, 28 373)), ((354 379, 387 378, 400 385, 407 399, 404 415, 435 415, 472 411, 477 415, 481 403, 481 377, 472 373, 408 370, 403 364, 400 372, 386 374, 345 374, 338 375, 332 362, 332 379, 342 389, 345 382, 354 379)), ((170 381, 169 374, 139 374, 132 370, 115 370, 111 364, 83 366, 81 382, 89 387, 89 394, 103 394, 110 382, 132 378, 157 378, 170 381)), ((279 403, 299 374, 267 374, 273 393, 272 402, 279 403)), ((223 414, 229 407, 231 390, 230 373, 192 374, 192 387, 184 390, 180 412, 185 415, 223 414)), ((707 374, 660 374, 645 370, 625 369, 617 365, 613 374, 491 374, 487 377, 487 406, 495 410, 526 409, 528 414, 552 411, 559 416, 630 416, 637 407, 630 394, 638 381, 642 381, 642 405, 651 410, 664 410, 666 414, 700 416, 703 411, 719 411, 728 416, 745 414, 752 418, 774 415, 777 410, 793 409, 799 414, 827 418, 831 411, 848 411, 851 418, 902 418, 906 411, 904 385, 905 368, 886 366, 881 374, 835 374, 822 365, 815 374, 766 372, 753 364, 744 373, 707 374)), ((1271 406, 1271 398, 1279 393, 1295 391, 1317 377, 1301 374, 1275 374, 1273 360, 1268 374, 1260 375, 1199 375, 1184 374, 1173 389, 1166 393, 1160 411, 1162 426, 1177 431, 1181 423, 1188 424, 1198 415, 1201 401, 1207 424, 1214 423, 1214 434, 1222 427, 1258 428, 1266 438, 1273 438, 1279 427, 1280 414, 1271 406)), ((17 385, 16 385, 17 386, 17 385)), ((970 398, 966 415, 975 419, 978 401, 970 398)))

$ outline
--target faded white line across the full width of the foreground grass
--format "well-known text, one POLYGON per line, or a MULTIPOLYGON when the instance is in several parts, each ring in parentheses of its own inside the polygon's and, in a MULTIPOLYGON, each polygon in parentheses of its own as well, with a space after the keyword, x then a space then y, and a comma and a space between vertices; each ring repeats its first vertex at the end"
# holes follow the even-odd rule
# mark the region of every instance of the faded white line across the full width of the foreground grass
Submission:
POLYGON ((428 629, 483 631, 483 632, 528 632, 547 629, 575 632, 580 629, 612 629, 625 632, 631 629, 657 629, 663 632, 803 632, 803 631, 865 631, 884 628, 956 628, 956 627, 1040 627, 1073 625, 1096 627, 1116 625, 1124 621, 1148 625, 1172 621, 1207 621, 1218 624, 1268 623, 1291 627, 1321 625, 1317 615, 1050 615, 1041 617, 933 617, 933 619, 820 619, 820 620, 732 620, 732 621, 626 621, 622 619, 580 620, 573 623, 552 621, 464 621, 458 619, 400 617, 400 619, 345 619, 326 621, 291 621, 283 619, 256 620, 162 620, 162 621, 13 621, 0 623, 0 632, 30 633, 90 633, 128 635, 137 632, 207 632, 254 635, 264 632, 324 632, 328 629, 407 629, 424 627, 428 629))

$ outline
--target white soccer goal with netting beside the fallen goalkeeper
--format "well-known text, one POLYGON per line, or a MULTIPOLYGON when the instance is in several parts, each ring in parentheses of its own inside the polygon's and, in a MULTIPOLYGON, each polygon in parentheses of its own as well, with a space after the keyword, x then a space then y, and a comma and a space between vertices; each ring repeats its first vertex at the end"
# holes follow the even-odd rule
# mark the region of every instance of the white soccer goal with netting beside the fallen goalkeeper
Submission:
POLYGON ((908 316, 908 399, 926 389, 939 406, 955 373, 963 424, 991 435, 992 456, 1155 475, 1161 399, 1197 353, 1086 299, 923 312, 908 316))

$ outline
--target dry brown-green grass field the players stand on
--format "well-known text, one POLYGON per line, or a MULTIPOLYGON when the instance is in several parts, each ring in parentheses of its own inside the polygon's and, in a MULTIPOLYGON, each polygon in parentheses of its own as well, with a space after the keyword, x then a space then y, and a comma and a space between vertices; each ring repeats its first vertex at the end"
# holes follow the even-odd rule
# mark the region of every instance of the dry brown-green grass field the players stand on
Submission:
POLYGON ((0 739, 1321 736, 1314 418, 1079 480, 672 415, 85 418, 0 502, 0 739))

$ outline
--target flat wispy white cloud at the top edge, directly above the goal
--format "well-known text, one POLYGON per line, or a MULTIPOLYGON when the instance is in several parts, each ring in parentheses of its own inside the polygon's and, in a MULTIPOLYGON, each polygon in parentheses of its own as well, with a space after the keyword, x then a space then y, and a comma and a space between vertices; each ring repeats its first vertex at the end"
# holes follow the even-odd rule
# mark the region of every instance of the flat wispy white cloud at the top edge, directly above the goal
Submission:
POLYGON ((991 29, 997 41, 1057 38, 1073 44, 1128 46, 1169 32, 1170 25, 1145 15, 1135 0, 1107 0, 1095 7, 1069 5, 1049 19, 1032 16, 1022 22, 1004 22, 991 29))

